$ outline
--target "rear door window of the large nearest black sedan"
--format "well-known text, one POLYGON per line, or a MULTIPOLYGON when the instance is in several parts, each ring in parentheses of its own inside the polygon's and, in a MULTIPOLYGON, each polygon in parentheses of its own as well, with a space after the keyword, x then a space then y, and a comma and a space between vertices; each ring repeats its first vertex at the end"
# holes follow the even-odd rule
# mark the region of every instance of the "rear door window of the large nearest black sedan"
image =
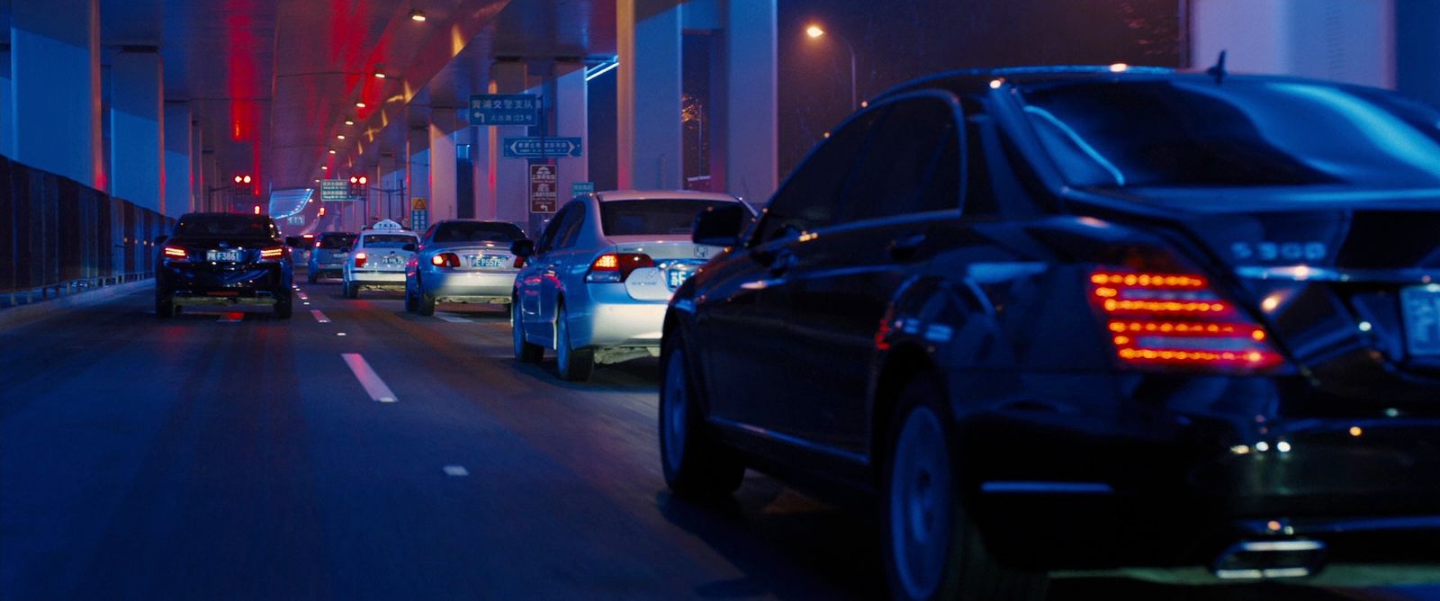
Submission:
POLYGON ((945 101, 894 104, 876 128, 837 221, 959 207, 959 131, 945 101))

